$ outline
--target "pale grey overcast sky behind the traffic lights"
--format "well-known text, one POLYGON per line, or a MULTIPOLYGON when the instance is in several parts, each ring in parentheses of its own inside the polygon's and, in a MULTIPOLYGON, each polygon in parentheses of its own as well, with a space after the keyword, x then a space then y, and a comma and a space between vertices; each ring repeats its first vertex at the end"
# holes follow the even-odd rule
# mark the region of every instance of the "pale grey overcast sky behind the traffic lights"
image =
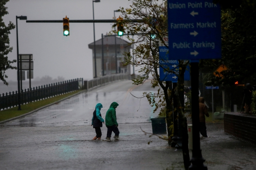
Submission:
MULTIPOLYGON (((128 0, 101 0, 94 3, 95 19, 112 19, 113 11, 119 7, 129 7, 128 0)), ((7 2, 8 15, 4 16, 16 25, 15 16, 27 16, 28 20, 62 20, 66 15, 70 20, 93 19, 92 0, 10 0, 7 2)), ((119 16, 120 13, 116 13, 119 16)), ((96 40, 101 34, 111 31, 111 23, 96 23, 96 40)), ((33 54, 34 78, 49 75, 65 79, 93 78, 92 23, 70 23, 70 36, 63 36, 62 23, 26 23, 18 20, 19 53, 33 54)), ((17 58, 16 28, 9 35, 10 60, 17 58)), ((17 66, 15 63, 14 66, 17 66)), ((8 81, 17 80, 17 71, 8 70, 8 81)))

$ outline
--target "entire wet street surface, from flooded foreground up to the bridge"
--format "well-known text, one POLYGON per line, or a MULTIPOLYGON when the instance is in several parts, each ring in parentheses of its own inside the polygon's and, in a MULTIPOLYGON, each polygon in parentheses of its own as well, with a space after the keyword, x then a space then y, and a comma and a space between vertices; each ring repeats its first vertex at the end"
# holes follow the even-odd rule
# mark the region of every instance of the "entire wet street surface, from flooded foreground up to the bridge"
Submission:
MULTIPOLYGON (((129 80, 81 93, 26 117, 0 124, 0 170, 182 170, 182 152, 152 132, 156 117, 144 91, 155 92, 150 82, 134 86, 129 80), (92 141, 90 126, 95 105, 119 103, 120 140, 92 141)), ((208 138, 200 140, 208 170, 256 170, 256 146, 224 133, 223 123, 207 124, 208 138)), ((112 134, 113 137, 113 134, 112 134)), ((191 156, 190 152, 190 156, 191 156)))

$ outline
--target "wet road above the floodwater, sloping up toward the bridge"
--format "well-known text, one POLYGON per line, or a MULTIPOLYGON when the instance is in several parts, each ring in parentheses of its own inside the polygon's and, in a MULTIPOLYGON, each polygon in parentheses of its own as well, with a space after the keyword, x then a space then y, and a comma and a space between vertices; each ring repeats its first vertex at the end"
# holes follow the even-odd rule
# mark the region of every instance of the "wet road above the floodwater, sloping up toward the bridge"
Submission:
POLYGON ((70 99, 54 104, 36 113, 7 122, 8 126, 74 126, 91 124, 91 118, 95 105, 102 103, 102 117, 105 118, 106 112, 112 102, 117 102, 117 122, 134 123, 148 122, 152 117, 156 117, 158 112, 153 113, 147 98, 138 99, 143 92, 155 92, 151 88, 148 80, 143 85, 132 85, 131 80, 119 81, 95 90, 80 93, 70 99))

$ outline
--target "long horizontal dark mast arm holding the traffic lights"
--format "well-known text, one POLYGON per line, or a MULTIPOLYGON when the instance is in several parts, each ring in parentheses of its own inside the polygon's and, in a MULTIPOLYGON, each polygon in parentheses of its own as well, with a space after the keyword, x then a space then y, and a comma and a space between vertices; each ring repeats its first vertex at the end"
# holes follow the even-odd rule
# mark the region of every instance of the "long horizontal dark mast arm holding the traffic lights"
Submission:
MULTIPOLYGON (((26 20, 26 22, 63 22, 63 20, 26 20)), ((117 20, 69 20, 69 23, 113 23, 113 22, 117 22, 117 20)), ((123 20, 123 22, 144 22, 144 20, 123 20)))

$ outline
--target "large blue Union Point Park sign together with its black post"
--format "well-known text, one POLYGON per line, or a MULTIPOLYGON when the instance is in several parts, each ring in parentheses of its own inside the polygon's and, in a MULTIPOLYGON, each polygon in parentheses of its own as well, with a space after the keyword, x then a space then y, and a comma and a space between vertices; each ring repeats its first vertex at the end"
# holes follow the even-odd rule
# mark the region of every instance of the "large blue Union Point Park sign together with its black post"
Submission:
POLYGON ((199 59, 221 58, 221 9, 212 0, 168 0, 169 58, 191 60, 193 151, 189 170, 207 170, 200 150, 199 59))

